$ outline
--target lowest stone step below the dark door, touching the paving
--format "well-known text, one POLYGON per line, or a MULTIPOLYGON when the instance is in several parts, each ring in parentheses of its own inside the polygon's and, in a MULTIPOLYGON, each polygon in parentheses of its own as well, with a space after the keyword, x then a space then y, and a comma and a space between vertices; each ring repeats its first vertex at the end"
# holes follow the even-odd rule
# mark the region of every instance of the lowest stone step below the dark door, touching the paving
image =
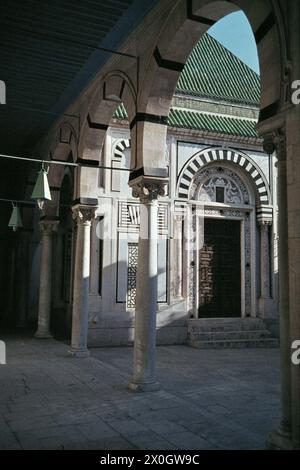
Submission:
POLYGON ((275 338, 266 339, 232 339, 214 341, 188 341, 188 345, 198 349, 237 349, 237 348, 277 348, 275 338))

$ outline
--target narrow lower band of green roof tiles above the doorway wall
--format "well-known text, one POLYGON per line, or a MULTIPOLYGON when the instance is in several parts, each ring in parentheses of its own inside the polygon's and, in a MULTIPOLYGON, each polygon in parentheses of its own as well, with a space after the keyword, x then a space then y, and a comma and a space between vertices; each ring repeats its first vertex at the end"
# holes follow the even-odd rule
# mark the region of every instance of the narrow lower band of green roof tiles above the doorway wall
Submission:
POLYGON ((171 109, 168 125, 184 129, 196 129, 221 134, 257 137, 256 122, 236 117, 224 117, 217 114, 205 114, 199 111, 171 109))

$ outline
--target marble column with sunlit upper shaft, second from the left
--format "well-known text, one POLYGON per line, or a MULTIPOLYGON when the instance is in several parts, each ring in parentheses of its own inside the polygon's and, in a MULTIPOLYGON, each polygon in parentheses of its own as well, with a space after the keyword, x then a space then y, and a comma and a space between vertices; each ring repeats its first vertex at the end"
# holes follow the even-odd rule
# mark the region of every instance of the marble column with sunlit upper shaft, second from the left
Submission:
POLYGON ((87 357, 89 322, 89 283, 90 283, 90 242, 91 223, 97 206, 76 204, 73 218, 77 223, 75 267, 73 282, 72 338, 70 354, 74 357, 87 357))

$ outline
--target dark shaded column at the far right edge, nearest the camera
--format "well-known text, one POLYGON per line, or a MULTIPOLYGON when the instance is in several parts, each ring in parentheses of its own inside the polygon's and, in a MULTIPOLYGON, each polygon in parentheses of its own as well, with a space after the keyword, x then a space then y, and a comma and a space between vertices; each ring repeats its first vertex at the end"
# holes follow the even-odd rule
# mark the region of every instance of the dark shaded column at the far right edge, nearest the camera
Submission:
POLYGON ((270 145, 268 153, 273 153, 273 151, 276 150, 278 158, 278 275, 281 368, 281 422, 279 429, 270 433, 268 444, 270 447, 275 448, 289 448, 291 438, 291 341, 289 316, 287 171, 284 134, 276 135, 268 145, 270 145))

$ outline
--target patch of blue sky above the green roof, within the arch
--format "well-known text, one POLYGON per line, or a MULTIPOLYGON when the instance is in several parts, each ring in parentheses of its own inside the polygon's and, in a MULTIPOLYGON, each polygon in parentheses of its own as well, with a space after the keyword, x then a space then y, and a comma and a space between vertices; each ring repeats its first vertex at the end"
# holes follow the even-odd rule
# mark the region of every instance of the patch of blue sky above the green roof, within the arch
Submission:
POLYGON ((238 11, 225 16, 208 32, 251 69, 259 73, 255 39, 252 28, 243 12, 238 11))

